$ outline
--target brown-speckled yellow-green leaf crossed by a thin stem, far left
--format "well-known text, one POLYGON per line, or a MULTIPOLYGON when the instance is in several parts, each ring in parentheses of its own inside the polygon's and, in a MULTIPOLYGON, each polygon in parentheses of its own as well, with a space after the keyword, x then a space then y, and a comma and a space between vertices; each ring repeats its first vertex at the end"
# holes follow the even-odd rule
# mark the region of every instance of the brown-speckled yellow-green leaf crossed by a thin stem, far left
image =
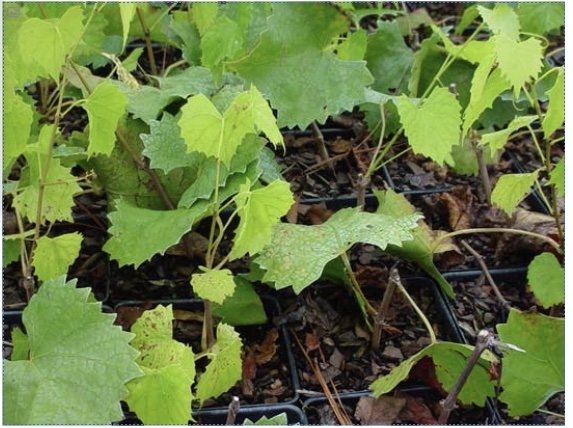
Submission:
MULTIPOLYGON (((20 215, 27 217, 30 222, 34 223, 38 212, 40 168, 44 166, 39 165, 38 157, 35 154, 26 155, 26 160, 28 161, 26 171, 30 171, 30 175, 37 179, 27 183, 27 187, 14 198, 14 206, 20 215)), ((58 220, 73 222, 74 195, 82 191, 77 183, 77 177, 70 174, 68 168, 60 166, 59 159, 50 159, 48 168, 46 183, 50 183, 50 185, 44 188, 41 222, 42 224, 54 223, 58 220)))

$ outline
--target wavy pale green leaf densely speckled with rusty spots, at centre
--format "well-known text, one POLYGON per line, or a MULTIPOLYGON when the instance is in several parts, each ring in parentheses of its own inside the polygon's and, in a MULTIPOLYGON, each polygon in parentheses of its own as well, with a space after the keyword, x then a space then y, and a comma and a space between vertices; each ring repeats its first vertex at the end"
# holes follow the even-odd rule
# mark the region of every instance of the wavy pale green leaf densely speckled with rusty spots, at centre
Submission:
POLYGON ((255 262, 265 269, 263 280, 275 288, 293 287, 296 293, 320 278, 325 265, 357 242, 384 250, 388 244, 401 245, 412 239, 418 215, 392 218, 342 209, 318 226, 279 223, 273 229, 271 243, 255 262))

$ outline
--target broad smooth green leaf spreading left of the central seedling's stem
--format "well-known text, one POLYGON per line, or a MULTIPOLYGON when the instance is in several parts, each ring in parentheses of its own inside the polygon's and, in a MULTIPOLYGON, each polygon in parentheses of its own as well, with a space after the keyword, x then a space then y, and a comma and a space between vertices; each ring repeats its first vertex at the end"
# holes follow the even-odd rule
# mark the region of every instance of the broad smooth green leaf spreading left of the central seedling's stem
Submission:
POLYGON ((163 254, 177 244, 181 236, 202 218, 208 206, 203 202, 189 209, 159 211, 138 208, 120 199, 116 202, 116 210, 108 216, 112 223, 111 237, 103 250, 120 266, 133 264, 137 268, 145 260, 157 253, 163 254))

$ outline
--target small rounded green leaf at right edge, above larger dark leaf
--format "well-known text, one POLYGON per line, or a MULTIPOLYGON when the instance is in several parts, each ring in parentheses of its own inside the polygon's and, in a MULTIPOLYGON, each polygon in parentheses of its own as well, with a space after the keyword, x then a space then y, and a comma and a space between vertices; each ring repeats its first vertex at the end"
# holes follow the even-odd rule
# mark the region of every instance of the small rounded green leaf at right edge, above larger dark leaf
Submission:
POLYGON ((544 308, 565 303, 565 269, 553 254, 541 253, 531 261, 527 282, 544 308))

